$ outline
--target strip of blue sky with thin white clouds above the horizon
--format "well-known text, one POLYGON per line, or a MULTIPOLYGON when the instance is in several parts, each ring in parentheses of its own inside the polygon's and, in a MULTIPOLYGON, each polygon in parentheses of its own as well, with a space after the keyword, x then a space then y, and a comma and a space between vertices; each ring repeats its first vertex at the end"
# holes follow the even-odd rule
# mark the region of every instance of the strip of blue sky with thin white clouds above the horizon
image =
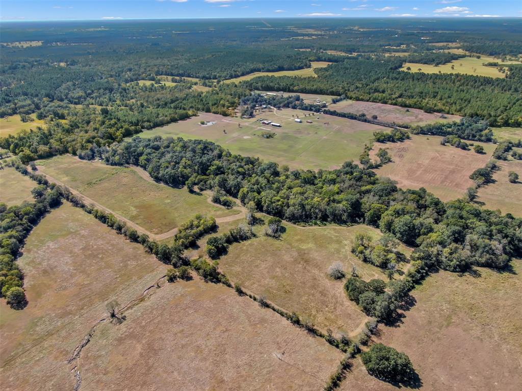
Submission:
POLYGON ((1 0, 1 20, 522 17, 522 0, 1 0))

